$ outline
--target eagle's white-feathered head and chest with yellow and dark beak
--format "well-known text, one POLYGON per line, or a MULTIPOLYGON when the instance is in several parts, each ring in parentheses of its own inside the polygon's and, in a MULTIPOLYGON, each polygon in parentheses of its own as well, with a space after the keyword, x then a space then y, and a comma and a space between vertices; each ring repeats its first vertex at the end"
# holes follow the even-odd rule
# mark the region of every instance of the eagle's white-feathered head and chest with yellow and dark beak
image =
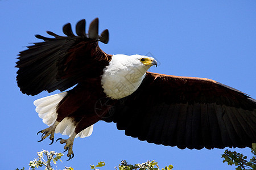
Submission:
POLYGON ((153 65, 157 66, 157 62, 152 57, 113 55, 101 79, 106 96, 121 99, 131 95, 141 85, 146 71, 153 65))

